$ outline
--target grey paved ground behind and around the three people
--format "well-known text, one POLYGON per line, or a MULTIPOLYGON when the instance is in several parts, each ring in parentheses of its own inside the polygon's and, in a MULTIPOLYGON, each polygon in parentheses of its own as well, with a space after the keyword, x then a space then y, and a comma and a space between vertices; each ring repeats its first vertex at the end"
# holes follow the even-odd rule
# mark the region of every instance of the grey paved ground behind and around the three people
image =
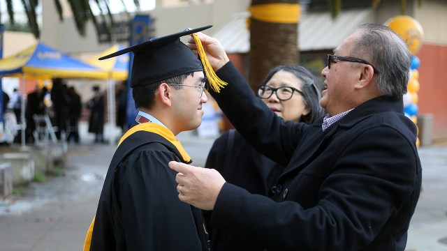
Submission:
MULTIPOLYGON (((179 135, 193 165, 205 162, 214 139, 179 135)), ((22 195, 0 201, 0 250, 78 251, 96 211, 115 146, 68 145, 63 176, 32 183, 22 195)), ((407 250, 447 251, 447 145, 420 148, 423 192, 411 222, 407 250), (442 243, 443 238, 446 243, 442 243)))

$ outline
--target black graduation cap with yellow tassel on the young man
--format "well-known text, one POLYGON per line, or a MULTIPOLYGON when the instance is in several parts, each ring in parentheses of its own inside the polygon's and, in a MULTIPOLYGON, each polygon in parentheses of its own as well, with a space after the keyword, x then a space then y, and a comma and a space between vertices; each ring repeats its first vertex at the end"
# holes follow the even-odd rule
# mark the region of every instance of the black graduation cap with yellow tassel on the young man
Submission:
POLYGON ((220 88, 226 85, 226 82, 223 82, 216 76, 207 60, 200 39, 193 34, 210 27, 212 25, 186 29, 159 38, 150 38, 138 45, 103 56, 99 60, 110 59, 127 52, 133 52, 131 87, 155 84, 171 77, 204 71, 212 89, 219 92, 220 88), (193 34, 194 41, 198 47, 198 56, 179 39, 181 36, 190 34, 193 34))

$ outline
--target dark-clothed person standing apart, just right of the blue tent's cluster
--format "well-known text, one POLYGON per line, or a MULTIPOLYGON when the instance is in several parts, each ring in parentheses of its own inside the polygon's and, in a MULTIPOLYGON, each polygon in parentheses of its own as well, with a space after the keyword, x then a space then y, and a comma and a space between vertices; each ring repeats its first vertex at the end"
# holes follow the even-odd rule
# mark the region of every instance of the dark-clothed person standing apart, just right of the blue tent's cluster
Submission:
POLYGON ((99 86, 93 86, 91 90, 94 92, 94 97, 87 104, 90 109, 89 132, 94 133, 95 143, 103 143, 104 97, 99 91, 99 86))

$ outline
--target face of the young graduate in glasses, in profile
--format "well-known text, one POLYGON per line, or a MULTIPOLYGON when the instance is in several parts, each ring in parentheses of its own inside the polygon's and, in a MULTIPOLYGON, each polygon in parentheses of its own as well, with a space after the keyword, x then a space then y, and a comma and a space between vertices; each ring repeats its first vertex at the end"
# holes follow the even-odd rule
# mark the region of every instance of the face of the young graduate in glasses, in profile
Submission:
POLYGON ((203 72, 193 73, 182 84, 182 89, 175 91, 175 126, 179 131, 193 130, 202 123, 202 104, 208 100, 204 91, 205 76, 203 72))

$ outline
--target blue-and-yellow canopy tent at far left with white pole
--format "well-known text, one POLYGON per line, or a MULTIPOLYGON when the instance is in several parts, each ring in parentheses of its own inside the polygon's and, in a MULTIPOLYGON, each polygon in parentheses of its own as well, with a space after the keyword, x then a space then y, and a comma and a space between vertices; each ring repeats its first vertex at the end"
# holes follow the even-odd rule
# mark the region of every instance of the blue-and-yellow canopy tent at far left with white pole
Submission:
MULTIPOLYGON (((108 79, 108 73, 39 42, 17 54, 1 59, 0 77, 21 77, 24 85, 26 78, 108 79)), ((24 86, 22 89, 24 90, 24 86)), ((24 97, 22 97, 21 121, 24 121, 24 97)), ((24 128, 22 122, 22 146, 24 145, 24 128)))

